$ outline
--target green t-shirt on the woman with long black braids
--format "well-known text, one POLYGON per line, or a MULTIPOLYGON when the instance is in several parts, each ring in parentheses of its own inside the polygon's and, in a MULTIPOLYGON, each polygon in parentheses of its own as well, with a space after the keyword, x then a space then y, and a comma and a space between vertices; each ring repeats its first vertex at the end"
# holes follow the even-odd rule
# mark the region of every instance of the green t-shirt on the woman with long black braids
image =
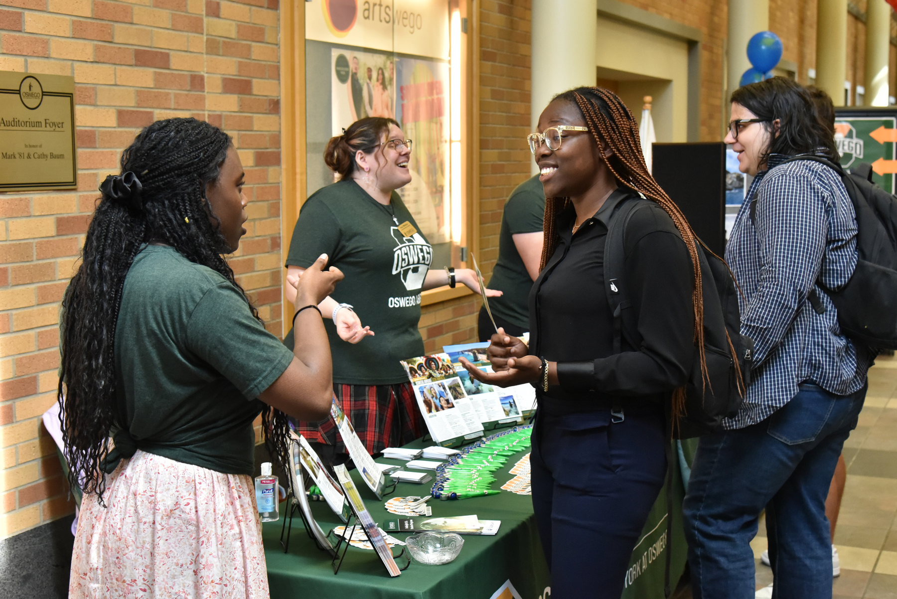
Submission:
POLYGON ((168 246, 127 273, 115 337, 118 402, 137 447, 221 473, 252 475, 256 397, 292 352, 221 274, 168 246))

